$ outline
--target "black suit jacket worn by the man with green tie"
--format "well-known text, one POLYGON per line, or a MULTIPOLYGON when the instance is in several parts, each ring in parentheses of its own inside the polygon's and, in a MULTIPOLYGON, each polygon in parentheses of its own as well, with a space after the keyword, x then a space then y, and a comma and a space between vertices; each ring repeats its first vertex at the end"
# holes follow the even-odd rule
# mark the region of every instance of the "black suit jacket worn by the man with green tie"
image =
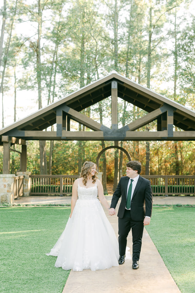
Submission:
MULTIPOLYGON (((122 218, 125 212, 127 199, 127 185, 129 177, 120 178, 118 186, 113 193, 111 208, 115 209, 119 198, 121 203, 118 209, 118 217, 122 218)), ((131 218, 133 221, 142 221, 145 216, 151 217, 152 214, 152 189, 150 181, 139 176, 131 199, 131 218)))

